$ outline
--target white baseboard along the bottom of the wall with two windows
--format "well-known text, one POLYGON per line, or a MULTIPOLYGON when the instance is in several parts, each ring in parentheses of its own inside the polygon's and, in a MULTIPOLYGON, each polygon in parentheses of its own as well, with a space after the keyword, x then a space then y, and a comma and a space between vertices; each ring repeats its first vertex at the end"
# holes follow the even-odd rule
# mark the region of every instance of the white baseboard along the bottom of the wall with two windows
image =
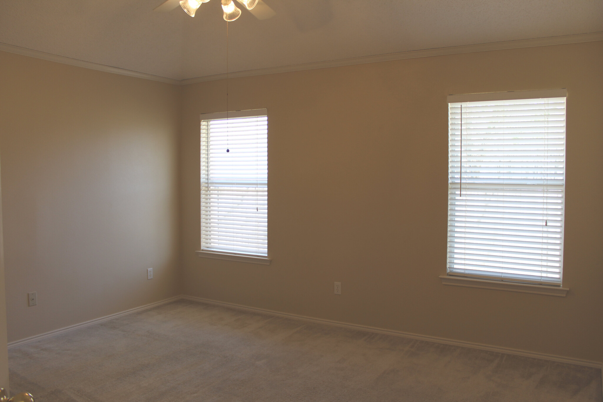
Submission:
MULTIPOLYGON (((499 353, 515 354, 517 356, 534 357, 535 359, 551 360, 553 362, 570 363, 580 366, 588 366, 595 368, 603 368, 601 362, 593 362, 591 360, 574 359, 573 357, 556 356, 554 354, 530 352, 513 348, 498 347, 492 345, 477 344, 475 342, 456 341, 455 339, 440 338, 437 336, 420 335, 415 333, 387 330, 384 328, 368 327, 367 325, 349 324, 348 322, 333 321, 330 319, 313 318, 292 313, 282 313, 274 310, 259 309, 257 307, 242 306, 241 304, 226 303, 224 301, 211 300, 201 297, 187 296, 182 297, 185 300, 197 301, 199 303, 214 304, 215 306, 230 307, 232 309, 244 310, 254 313, 262 313, 267 315, 279 316, 284 318, 297 319, 300 321, 315 322, 317 324, 333 325, 335 327, 350 328, 353 330, 367 331, 373 333, 402 336, 403 338, 418 339, 420 341, 436 342, 438 344, 461 346, 472 349, 487 350, 499 353)), ((603 375, 603 374, 602 374, 603 375)), ((603 378, 603 377, 602 377, 603 378)))

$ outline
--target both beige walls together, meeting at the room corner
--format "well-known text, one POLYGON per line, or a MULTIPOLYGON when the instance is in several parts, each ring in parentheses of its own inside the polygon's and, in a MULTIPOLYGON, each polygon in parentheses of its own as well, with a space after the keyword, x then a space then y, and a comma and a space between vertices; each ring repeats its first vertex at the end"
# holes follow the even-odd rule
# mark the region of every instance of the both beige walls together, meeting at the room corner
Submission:
POLYGON ((259 266, 194 254, 198 115, 226 109, 224 81, 180 88, 0 52, 8 340, 184 289, 601 361, 601 71, 597 42, 231 80, 232 110, 268 108, 273 263, 259 266), (446 95, 560 87, 570 293, 443 286, 446 95), (333 295, 333 281, 343 295, 333 295), (27 307, 31 291, 36 307, 27 307))

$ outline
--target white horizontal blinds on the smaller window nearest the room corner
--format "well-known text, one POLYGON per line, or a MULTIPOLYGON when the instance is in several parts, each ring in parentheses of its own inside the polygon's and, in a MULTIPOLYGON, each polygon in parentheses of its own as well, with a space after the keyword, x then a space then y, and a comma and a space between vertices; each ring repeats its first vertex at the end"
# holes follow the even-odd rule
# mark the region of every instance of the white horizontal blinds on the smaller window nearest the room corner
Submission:
POLYGON ((201 121, 201 250, 267 255, 267 139, 267 116, 201 121))

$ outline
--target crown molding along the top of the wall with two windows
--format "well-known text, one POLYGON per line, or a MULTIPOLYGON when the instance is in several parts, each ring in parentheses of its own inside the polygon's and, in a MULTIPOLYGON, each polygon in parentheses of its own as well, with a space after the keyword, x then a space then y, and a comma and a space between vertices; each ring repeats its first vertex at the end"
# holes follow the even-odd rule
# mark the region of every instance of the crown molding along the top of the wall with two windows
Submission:
MULTIPOLYGON (((339 60, 318 61, 316 63, 293 64, 291 66, 271 67, 257 70, 238 71, 229 73, 229 78, 251 77, 253 75, 278 74, 281 72, 314 70, 320 68, 352 66, 354 64, 378 63, 379 61, 403 60, 405 58, 420 58, 443 56, 450 54, 487 52, 492 50, 535 48, 538 46, 567 45, 569 43, 598 42, 603 40, 603 32, 550 36, 535 39, 508 40, 506 42, 479 43, 477 45, 451 46, 415 50, 409 52, 377 54, 374 56, 342 58, 339 60)), ((180 81, 180 85, 203 83, 206 81, 224 80, 226 74, 207 75, 206 77, 188 78, 180 81)))

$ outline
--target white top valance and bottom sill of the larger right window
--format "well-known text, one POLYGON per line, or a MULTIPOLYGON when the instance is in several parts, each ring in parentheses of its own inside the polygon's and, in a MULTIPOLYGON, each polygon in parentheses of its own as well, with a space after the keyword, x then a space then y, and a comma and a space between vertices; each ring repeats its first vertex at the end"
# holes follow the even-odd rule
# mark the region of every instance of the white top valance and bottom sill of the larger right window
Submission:
MULTIPOLYGON (((448 95, 447 103, 473 102, 473 101, 496 101, 509 99, 535 99, 535 98, 567 98, 567 89, 545 89, 545 90, 520 90, 508 92, 469 93, 464 95, 448 95)), ((567 116, 566 116, 567 119, 567 116)), ((461 277, 458 275, 440 275, 441 283, 450 286, 478 287, 480 289, 495 289, 498 291, 522 292, 539 295, 565 297, 569 287, 563 285, 541 285, 526 282, 512 282, 507 280, 494 280, 482 278, 461 277)))

